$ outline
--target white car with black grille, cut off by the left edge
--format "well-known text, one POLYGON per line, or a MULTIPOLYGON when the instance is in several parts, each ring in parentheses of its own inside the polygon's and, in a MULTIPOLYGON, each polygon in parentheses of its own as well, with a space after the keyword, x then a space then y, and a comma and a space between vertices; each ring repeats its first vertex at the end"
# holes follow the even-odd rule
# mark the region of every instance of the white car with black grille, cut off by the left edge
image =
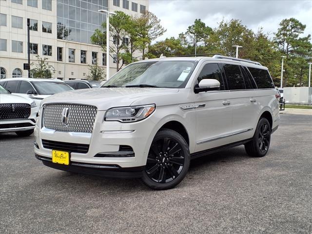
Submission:
POLYGON ((29 136, 34 132, 38 107, 30 98, 11 94, 0 85, 0 133, 29 136))

